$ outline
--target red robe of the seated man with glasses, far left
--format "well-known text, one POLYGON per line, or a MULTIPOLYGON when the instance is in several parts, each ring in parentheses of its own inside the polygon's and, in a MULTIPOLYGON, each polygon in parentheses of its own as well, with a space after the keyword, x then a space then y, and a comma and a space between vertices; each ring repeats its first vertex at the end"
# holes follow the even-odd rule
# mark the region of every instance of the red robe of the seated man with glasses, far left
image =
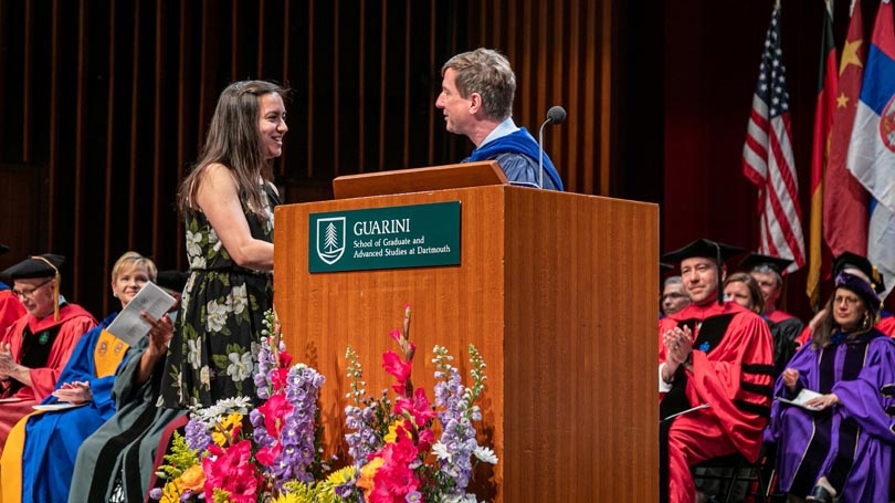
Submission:
POLYGON ((10 394, 7 389, 8 383, 0 384, 0 397, 15 400, 0 402, 0 452, 7 442, 9 430, 21 418, 33 411, 31 406, 39 404, 53 391, 56 379, 65 364, 69 363, 69 357, 81 336, 95 326, 96 319, 83 307, 76 304, 65 304, 59 310, 59 321, 53 319, 52 313, 41 319, 25 315, 19 318, 4 336, 0 337, 0 342, 10 345, 12 359, 19 363, 21 361, 25 327, 31 331, 31 334, 59 327, 59 334, 50 348, 45 366, 32 368, 30 371, 32 386, 22 386, 17 392, 10 394))

